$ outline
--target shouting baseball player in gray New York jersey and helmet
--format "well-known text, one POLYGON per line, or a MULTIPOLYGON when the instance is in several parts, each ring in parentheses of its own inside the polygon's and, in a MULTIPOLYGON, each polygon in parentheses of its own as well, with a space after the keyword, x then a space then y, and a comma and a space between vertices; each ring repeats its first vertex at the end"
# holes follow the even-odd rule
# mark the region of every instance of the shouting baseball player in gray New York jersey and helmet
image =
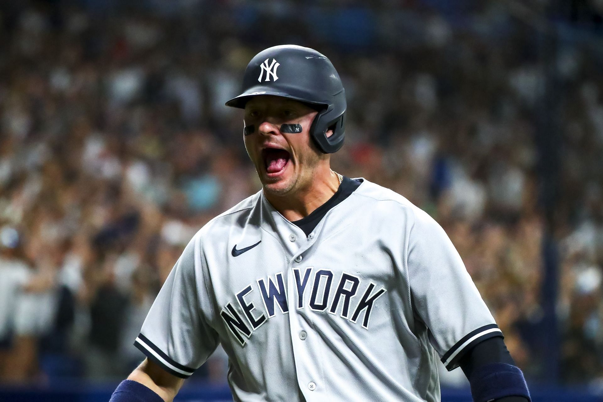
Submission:
POLYGON ((244 142, 262 189, 192 238, 113 402, 171 401, 218 344, 235 401, 440 401, 437 359, 475 401, 529 400, 444 230, 402 195, 330 169, 346 96, 333 64, 274 46, 248 64, 244 142))

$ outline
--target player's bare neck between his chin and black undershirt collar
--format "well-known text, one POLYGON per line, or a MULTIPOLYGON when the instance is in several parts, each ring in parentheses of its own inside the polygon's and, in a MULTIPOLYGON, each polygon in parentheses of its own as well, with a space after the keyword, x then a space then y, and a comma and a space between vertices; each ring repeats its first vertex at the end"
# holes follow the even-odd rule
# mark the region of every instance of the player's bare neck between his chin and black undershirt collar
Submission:
POLYGON ((339 180, 330 168, 315 174, 308 187, 286 195, 264 192, 274 209, 289 221, 298 221, 314 212, 337 192, 339 180))

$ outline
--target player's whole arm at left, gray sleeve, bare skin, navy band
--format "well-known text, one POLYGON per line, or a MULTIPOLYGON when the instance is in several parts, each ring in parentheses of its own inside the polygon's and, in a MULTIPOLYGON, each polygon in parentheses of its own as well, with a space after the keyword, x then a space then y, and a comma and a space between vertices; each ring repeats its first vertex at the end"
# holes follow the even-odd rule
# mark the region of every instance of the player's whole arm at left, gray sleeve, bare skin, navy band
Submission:
POLYGON ((199 241, 189 242, 163 283, 134 341, 147 359, 119 385, 111 402, 171 401, 218 346, 218 333, 206 319, 213 310, 199 241))

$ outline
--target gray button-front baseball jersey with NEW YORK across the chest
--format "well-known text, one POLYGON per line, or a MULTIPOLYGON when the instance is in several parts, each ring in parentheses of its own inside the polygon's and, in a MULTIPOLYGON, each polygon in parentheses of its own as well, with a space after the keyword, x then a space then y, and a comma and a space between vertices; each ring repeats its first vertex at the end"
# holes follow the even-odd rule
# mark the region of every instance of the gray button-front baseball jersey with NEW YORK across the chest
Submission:
POLYGON ((193 237, 136 346, 186 378, 222 344, 235 401, 439 401, 499 328, 444 230, 368 180, 308 236, 262 191, 193 237))

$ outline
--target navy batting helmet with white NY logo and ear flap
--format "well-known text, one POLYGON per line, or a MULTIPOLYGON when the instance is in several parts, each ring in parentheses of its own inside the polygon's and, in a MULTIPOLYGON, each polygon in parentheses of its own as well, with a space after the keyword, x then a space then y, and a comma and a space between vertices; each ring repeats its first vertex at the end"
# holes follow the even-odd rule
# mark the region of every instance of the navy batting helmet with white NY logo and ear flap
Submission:
POLYGON ((226 102, 244 108, 257 95, 294 99, 318 110, 310 135, 325 154, 343 145, 346 92, 331 61, 315 51, 297 45, 273 46, 251 59, 243 76, 242 93, 226 102), (327 137, 327 130, 333 134, 327 137))

